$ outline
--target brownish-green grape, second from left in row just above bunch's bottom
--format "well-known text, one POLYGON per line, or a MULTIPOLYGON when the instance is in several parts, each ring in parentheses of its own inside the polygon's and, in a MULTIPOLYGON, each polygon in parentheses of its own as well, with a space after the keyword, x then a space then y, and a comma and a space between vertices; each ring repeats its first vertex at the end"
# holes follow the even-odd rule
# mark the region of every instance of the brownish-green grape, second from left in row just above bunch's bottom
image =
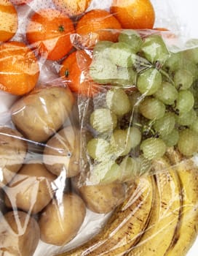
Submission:
POLYGON ((127 129, 116 129, 111 136, 110 143, 117 157, 125 156, 131 150, 131 141, 127 129))

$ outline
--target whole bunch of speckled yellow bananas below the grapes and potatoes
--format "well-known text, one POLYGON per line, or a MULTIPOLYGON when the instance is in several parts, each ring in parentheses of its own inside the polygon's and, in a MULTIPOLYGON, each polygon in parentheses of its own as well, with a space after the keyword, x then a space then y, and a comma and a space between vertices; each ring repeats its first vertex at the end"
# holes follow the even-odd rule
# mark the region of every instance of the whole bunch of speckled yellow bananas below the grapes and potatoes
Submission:
POLYGON ((198 166, 169 148, 103 229, 60 256, 184 256, 198 233, 198 166))

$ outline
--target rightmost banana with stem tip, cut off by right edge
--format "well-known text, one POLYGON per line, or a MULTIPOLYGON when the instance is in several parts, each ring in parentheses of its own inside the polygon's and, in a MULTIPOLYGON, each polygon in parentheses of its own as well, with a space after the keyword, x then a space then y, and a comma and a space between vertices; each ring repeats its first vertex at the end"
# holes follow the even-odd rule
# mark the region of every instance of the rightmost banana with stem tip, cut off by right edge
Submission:
POLYGON ((173 148, 167 154, 181 181, 183 206, 181 222, 166 256, 183 256, 194 244, 198 233, 198 167, 192 159, 182 159, 173 148))

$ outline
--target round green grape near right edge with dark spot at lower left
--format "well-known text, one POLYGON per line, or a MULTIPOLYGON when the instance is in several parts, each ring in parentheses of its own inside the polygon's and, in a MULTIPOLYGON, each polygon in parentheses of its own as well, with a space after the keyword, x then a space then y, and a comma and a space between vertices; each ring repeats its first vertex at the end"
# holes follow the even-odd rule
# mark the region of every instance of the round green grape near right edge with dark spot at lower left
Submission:
POLYGON ((180 90, 189 89, 193 83, 193 75, 186 69, 178 69, 173 79, 175 87, 180 90))

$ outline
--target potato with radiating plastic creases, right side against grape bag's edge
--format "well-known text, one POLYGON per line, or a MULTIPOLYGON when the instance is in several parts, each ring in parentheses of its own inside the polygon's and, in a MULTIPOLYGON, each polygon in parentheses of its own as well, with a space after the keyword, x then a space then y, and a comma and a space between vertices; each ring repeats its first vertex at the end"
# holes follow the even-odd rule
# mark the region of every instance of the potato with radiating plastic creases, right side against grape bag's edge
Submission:
POLYGON ((66 172, 66 177, 79 174, 80 132, 68 126, 56 133, 44 148, 43 161, 47 169, 59 176, 66 172))

